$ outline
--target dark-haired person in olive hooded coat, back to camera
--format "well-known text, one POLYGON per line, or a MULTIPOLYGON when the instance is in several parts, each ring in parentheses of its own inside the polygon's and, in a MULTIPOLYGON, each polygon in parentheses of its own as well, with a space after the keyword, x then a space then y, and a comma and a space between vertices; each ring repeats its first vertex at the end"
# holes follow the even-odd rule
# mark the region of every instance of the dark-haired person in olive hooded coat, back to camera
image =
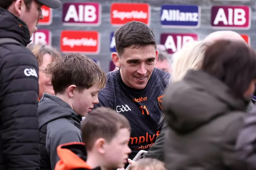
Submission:
POLYGON ((167 88, 168 170, 246 169, 235 141, 255 91, 255 65, 256 53, 244 42, 219 40, 206 49, 201 70, 167 88))

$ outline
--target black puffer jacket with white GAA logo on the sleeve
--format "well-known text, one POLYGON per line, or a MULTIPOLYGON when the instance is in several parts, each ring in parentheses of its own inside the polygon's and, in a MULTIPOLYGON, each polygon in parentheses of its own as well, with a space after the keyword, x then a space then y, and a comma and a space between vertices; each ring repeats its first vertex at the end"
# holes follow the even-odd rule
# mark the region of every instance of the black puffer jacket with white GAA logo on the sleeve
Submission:
POLYGON ((26 24, 0 8, 0 169, 39 169, 38 63, 26 24))

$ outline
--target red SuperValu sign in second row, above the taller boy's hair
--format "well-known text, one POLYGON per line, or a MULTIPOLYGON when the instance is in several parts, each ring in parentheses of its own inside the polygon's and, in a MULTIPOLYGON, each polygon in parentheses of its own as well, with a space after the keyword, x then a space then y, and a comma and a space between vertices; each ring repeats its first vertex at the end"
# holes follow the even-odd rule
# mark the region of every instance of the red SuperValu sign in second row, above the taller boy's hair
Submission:
POLYGON ((100 46, 99 32, 71 31, 61 32, 60 50, 62 52, 79 52, 98 54, 100 46))

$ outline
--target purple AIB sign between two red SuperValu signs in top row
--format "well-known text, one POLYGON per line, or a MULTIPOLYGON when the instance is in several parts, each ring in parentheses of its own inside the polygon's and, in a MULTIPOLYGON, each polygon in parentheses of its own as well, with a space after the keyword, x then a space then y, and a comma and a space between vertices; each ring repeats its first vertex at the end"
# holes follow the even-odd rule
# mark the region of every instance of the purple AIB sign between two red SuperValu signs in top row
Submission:
POLYGON ((101 5, 99 3, 64 3, 62 22, 66 25, 92 25, 101 23, 101 5))

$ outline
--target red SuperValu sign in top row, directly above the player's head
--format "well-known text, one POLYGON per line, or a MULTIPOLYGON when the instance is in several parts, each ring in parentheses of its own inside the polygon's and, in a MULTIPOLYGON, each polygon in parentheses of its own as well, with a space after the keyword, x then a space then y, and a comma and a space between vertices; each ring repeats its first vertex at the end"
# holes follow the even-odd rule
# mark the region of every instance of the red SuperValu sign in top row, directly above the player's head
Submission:
POLYGON ((150 6, 147 3, 112 3, 111 24, 122 25, 130 21, 150 22, 150 6))

